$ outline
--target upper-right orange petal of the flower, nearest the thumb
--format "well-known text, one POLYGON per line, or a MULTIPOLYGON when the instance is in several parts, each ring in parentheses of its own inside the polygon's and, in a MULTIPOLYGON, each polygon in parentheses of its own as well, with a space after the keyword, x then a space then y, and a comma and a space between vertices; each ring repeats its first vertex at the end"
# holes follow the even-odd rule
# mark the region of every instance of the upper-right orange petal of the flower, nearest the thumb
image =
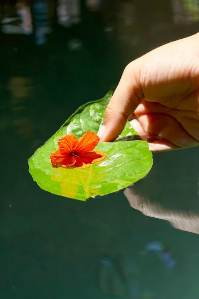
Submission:
POLYGON ((76 152, 78 154, 80 152, 91 151, 95 149, 97 144, 99 143, 100 138, 94 132, 87 131, 79 140, 78 146, 76 148, 76 152))

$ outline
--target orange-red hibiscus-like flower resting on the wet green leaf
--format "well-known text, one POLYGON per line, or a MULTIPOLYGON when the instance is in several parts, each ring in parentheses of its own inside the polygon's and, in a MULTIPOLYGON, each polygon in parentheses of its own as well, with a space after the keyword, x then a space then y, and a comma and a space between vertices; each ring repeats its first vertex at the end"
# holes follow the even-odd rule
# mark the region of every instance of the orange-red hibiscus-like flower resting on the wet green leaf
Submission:
POLYGON ((100 138, 94 132, 87 131, 78 141, 75 135, 65 135, 58 140, 59 149, 51 153, 53 167, 89 167, 91 163, 103 160, 106 154, 94 150, 100 138))

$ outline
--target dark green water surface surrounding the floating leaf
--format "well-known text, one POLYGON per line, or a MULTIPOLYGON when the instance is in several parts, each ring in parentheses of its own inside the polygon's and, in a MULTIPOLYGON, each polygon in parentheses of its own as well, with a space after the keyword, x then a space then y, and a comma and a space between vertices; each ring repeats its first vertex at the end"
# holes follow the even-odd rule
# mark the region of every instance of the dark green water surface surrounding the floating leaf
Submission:
POLYGON ((81 5, 81 22, 55 26, 42 46, 0 35, 0 299, 108 299, 104 254, 125 272, 122 299, 199 299, 198 148, 154 154, 148 176, 125 191, 133 208, 122 191, 87 202, 50 194, 28 172, 34 151, 128 62, 198 32, 192 2, 81 5), (142 253, 152 241, 172 253, 172 269, 142 253))

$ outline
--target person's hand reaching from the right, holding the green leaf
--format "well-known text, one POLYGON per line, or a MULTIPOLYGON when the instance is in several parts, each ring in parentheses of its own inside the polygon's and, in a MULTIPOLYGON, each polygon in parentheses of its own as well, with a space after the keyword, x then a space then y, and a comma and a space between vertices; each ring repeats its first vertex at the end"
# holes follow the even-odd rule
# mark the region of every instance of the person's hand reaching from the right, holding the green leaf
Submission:
POLYGON ((111 142, 129 119, 151 151, 199 146, 199 33, 129 63, 98 135, 111 142))

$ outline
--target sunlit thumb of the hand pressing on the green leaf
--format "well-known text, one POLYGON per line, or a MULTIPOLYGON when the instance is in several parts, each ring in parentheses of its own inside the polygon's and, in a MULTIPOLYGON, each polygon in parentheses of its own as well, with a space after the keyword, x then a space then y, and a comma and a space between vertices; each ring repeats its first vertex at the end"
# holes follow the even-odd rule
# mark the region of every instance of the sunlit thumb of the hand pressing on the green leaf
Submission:
POLYGON ((128 64, 108 103, 103 126, 98 132, 100 141, 114 141, 123 131, 128 118, 143 99, 140 84, 141 58, 128 64))

